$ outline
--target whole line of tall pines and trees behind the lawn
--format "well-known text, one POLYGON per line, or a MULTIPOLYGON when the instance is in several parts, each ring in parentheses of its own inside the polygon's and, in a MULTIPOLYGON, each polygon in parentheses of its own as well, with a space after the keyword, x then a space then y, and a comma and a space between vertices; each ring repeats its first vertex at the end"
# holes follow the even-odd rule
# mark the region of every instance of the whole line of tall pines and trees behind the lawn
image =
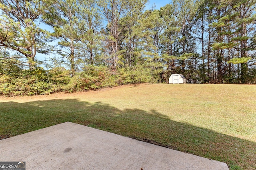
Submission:
POLYGON ((188 83, 256 82, 256 0, 172 0, 160 10, 147 3, 0 0, 2 88, 40 72, 47 80, 37 82, 65 87, 168 82, 173 73, 188 83))

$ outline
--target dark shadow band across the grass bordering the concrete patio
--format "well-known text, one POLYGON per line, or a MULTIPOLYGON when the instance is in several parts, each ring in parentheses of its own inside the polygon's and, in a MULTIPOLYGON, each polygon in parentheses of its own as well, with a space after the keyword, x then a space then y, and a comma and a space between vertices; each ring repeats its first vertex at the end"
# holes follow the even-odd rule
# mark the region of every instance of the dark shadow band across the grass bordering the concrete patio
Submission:
POLYGON ((226 162, 230 169, 256 169, 256 143, 172 121, 155 110, 78 99, 0 103, 2 139, 67 121, 226 162))

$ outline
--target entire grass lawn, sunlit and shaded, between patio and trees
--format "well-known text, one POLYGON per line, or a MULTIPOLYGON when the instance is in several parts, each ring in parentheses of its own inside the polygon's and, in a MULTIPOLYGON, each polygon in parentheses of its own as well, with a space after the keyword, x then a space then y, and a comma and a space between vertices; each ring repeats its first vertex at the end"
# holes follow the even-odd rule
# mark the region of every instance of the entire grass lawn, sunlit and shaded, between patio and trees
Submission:
POLYGON ((66 121, 256 169, 256 85, 139 84, 0 98, 0 137, 66 121))

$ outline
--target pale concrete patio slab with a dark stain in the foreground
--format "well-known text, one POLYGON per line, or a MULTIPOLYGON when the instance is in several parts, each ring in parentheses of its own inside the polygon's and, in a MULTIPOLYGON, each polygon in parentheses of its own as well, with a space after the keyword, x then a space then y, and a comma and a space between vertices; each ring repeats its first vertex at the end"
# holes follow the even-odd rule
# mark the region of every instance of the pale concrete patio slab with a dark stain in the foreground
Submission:
POLYGON ((75 123, 0 140, 0 161, 34 170, 228 170, 227 164, 75 123))

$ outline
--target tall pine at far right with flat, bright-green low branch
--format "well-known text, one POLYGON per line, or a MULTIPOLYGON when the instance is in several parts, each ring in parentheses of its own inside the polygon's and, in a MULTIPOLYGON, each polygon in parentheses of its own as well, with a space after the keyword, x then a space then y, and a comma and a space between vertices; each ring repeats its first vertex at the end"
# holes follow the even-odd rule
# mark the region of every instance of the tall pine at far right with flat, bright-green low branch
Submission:
POLYGON ((230 16, 230 20, 233 21, 234 37, 231 39, 234 43, 240 44, 239 51, 240 57, 233 58, 230 63, 239 64, 241 63, 241 83, 248 82, 248 64, 247 62, 251 59, 248 48, 249 40, 252 31, 255 30, 255 0, 227 0, 228 4, 233 9, 233 13, 230 16))

